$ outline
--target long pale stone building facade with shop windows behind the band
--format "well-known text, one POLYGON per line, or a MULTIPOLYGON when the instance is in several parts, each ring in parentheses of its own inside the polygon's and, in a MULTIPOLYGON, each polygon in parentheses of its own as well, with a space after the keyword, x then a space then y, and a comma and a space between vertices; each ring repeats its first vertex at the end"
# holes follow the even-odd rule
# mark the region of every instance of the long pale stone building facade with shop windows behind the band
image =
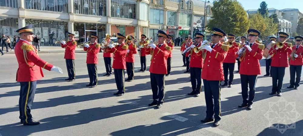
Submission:
POLYGON ((204 17, 204 5, 211 4, 182 3, 181 7, 180 0, 5 0, 0 1, 0 33, 13 37, 18 28, 33 24, 42 46, 55 45, 67 38, 67 32, 75 33, 78 42, 92 33, 100 40, 117 33, 156 37, 158 30, 185 36, 193 34, 194 17, 204 17))

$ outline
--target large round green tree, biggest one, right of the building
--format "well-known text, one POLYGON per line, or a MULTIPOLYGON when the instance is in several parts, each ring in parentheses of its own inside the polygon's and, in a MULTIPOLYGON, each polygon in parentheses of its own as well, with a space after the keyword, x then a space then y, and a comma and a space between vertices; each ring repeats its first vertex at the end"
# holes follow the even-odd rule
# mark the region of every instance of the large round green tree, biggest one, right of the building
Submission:
POLYGON ((226 34, 238 36, 247 32, 249 27, 247 13, 236 0, 215 0, 211 11, 213 16, 206 26, 208 30, 217 27, 226 34))

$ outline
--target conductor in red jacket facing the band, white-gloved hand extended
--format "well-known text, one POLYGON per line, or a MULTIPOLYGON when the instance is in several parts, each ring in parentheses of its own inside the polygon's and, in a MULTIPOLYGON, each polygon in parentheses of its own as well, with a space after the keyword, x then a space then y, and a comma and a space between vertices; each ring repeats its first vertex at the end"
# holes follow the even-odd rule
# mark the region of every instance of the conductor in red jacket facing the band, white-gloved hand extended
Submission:
POLYGON ((32 119, 31 107, 33 104, 37 80, 43 77, 42 68, 62 74, 62 69, 42 60, 36 48, 30 44, 33 41, 32 25, 18 29, 20 40, 15 46, 15 55, 18 61, 16 81, 20 82, 19 113, 21 124, 38 125, 40 122, 32 119))

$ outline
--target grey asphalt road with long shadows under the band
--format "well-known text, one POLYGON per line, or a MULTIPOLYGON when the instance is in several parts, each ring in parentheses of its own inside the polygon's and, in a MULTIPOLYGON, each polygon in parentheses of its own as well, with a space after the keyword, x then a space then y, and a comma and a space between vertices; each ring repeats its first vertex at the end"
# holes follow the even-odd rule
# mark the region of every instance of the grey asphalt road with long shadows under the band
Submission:
MULTIPOLYGON (((61 67, 64 73, 43 70, 45 77, 38 81, 32 106, 34 119, 41 121, 37 126, 20 125, 20 86, 15 82, 18 64, 14 54, 0 57, 0 136, 303 135, 303 87, 286 88, 289 85, 289 68, 286 68, 282 96, 268 95, 272 83, 271 77, 261 76, 265 74, 264 60, 260 61, 262 74, 256 84, 253 109, 238 108, 242 97, 237 73, 232 88, 221 89, 222 119, 220 126, 214 128, 213 123, 200 123, 206 115, 203 86, 199 97, 187 95, 191 92, 190 75, 183 73, 185 67, 178 50, 173 50, 172 73, 165 78, 165 100, 160 109, 147 106, 152 101, 149 72, 136 72, 140 69, 138 55, 135 80, 125 82, 126 93, 119 97, 113 95, 117 91, 114 76, 102 76, 105 74, 102 53, 99 53, 99 81, 95 88, 85 88, 89 82, 85 53, 76 53, 74 82, 64 81, 67 78, 64 53, 39 56, 61 67)), ((149 60, 150 56, 148 66, 149 60)))

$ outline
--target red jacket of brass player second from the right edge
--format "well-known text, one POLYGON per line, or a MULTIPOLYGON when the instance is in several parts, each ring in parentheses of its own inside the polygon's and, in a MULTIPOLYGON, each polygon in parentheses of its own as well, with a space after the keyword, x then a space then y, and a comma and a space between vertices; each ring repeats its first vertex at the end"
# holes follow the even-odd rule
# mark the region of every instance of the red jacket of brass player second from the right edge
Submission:
POLYGON ((276 67, 288 67, 288 54, 291 53, 291 43, 284 43, 283 48, 276 50, 276 45, 269 49, 269 55, 271 57, 271 66, 276 67))

